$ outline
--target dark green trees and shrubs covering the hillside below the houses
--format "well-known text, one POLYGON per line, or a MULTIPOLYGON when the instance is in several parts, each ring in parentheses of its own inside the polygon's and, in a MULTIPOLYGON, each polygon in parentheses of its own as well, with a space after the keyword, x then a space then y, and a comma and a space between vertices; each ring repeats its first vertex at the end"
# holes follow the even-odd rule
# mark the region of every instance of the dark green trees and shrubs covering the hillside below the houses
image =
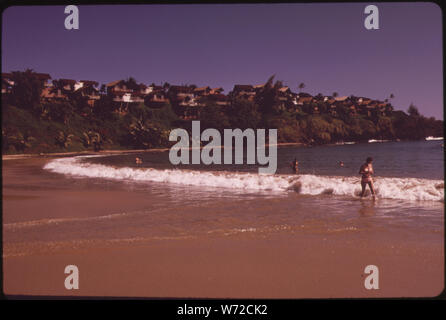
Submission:
MULTIPOLYGON (((67 99, 48 100, 42 99, 44 85, 31 70, 12 75, 14 86, 2 94, 4 154, 165 147, 170 145, 170 130, 191 127, 191 120, 182 118, 175 102, 156 108, 142 102, 127 103, 123 108, 104 89, 94 106, 77 92, 65 92, 67 99)), ((297 107, 284 103, 281 87, 282 83, 274 83, 271 77, 254 99, 228 95, 230 104, 226 106, 203 100, 205 105, 196 107, 196 120, 201 121, 202 130, 277 128, 279 142, 326 144, 443 136, 443 121, 424 117, 413 105, 408 114, 393 108, 385 115, 352 114, 343 105, 330 113, 330 105, 320 99, 297 107)), ((303 83, 299 86, 304 87, 303 83)), ((64 90, 57 81, 52 88, 64 90)))

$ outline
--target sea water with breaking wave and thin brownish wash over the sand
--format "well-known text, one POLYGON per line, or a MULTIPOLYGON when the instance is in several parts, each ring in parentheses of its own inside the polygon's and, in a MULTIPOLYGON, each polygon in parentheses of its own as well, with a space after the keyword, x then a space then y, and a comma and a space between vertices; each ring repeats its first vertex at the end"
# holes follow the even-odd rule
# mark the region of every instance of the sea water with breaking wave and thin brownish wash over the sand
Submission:
POLYGON ((168 151, 54 159, 35 173, 46 182, 28 188, 81 190, 85 206, 60 218, 6 223, 5 239, 17 252, 35 250, 38 243, 53 250, 95 241, 115 245, 274 233, 439 243, 444 239, 442 143, 280 147, 274 175, 258 174, 254 165, 173 166, 168 151), (135 163, 136 156, 143 164, 135 163), (369 194, 359 198, 358 170, 368 156, 374 158, 376 200, 369 194), (290 168, 294 158, 297 175, 290 168), (119 197, 113 200, 123 205, 106 213, 89 210, 90 203, 100 207, 112 200, 94 199, 97 190, 119 197), (20 243, 28 244, 24 249, 20 243))

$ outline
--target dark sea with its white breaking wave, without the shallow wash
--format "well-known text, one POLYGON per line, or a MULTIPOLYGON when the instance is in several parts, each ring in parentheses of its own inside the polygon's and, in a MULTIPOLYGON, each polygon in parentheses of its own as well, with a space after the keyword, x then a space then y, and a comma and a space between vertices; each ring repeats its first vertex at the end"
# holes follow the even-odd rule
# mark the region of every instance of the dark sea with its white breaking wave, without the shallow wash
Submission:
MULTIPOLYGON (((444 151, 441 141, 388 142, 358 145, 278 148, 277 172, 258 173, 258 165, 172 165, 169 151, 114 156, 80 156, 53 160, 45 166, 68 176, 125 183, 188 186, 187 193, 209 197, 233 194, 339 196, 356 199, 360 192, 359 167, 374 158, 374 183, 381 199, 444 201, 444 151), (135 157, 143 160, 135 163, 135 157), (299 174, 290 163, 299 161, 299 174), (340 161, 344 163, 340 165, 340 161)), ((246 162, 246 158, 244 160, 246 162)))

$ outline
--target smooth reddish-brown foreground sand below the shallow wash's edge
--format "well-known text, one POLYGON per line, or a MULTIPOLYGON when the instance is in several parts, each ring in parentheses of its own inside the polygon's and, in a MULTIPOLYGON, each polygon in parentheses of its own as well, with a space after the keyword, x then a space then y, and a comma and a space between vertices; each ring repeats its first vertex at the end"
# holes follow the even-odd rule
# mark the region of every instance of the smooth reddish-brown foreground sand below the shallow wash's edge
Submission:
POLYGON ((4 259, 6 294, 129 297, 429 297, 443 289, 441 248, 269 237, 159 241, 4 259), (395 254, 398 252, 398 254, 395 254), (379 267, 379 290, 364 267, 379 267), (66 265, 79 290, 64 288, 66 265))

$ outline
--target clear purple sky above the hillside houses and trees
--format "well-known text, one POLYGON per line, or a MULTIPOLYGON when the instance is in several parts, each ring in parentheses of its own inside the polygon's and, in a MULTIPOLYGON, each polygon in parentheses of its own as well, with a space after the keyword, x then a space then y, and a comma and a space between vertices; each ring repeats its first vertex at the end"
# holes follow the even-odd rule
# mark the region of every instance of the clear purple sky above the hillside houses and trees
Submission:
POLYGON ((361 4, 79 6, 79 30, 64 6, 3 13, 2 72, 108 83, 260 84, 272 74, 297 90, 354 94, 396 109, 413 102, 443 119, 440 8, 378 3, 380 29, 364 28, 361 4))

